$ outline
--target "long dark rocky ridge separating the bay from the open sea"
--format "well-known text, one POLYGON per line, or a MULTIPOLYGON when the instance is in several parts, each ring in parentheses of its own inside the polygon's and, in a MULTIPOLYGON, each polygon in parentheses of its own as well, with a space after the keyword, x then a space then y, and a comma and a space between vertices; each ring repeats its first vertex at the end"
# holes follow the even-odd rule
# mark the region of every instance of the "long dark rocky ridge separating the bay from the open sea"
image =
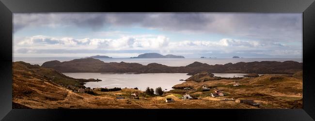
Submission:
POLYGON ((296 61, 254 61, 209 65, 193 62, 187 66, 172 67, 158 63, 142 65, 127 62, 103 62, 93 58, 72 61, 47 61, 42 67, 53 68, 59 72, 100 72, 100 73, 189 73, 194 75, 203 71, 211 73, 256 73, 256 74, 294 74, 302 70, 303 63, 296 61))

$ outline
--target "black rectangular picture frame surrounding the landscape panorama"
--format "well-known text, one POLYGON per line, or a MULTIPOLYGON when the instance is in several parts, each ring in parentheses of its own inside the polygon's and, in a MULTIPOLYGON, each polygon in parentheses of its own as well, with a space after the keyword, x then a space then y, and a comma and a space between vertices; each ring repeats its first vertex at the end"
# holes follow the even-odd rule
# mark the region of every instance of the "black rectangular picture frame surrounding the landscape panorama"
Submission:
POLYGON ((0 0, 0 119, 3 121, 181 120, 314 121, 314 0, 0 0), (258 12, 303 13, 302 109, 12 109, 12 15, 45 12, 258 12), (136 117, 135 117, 136 115, 136 117), (143 119, 145 120, 145 119, 143 119))

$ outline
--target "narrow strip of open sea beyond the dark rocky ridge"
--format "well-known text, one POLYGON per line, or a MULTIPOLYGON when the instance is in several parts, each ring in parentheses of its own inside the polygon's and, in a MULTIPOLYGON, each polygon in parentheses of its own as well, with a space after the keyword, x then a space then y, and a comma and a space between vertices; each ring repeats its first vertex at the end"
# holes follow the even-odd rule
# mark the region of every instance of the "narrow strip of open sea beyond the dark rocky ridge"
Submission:
MULTIPOLYGON (((31 64, 38 64, 42 65, 46 61, 71 61, 73 59, 78 58, 15 58, 13 61, 25 61, 31 64)), ((298 61, 302 62, 302 58, 239 58, 239 59, 233 59, 233 58, 185 58, 185 59, 130 59, 130 58, 124 58, 124 59, 99 59, 104 62, 136 62, 140 63, 142 65, 147 65, 149 63, 160 63, 167 66, 186 66, 190 63, 193 63, 195 61, 207 63, 210 65, 214 64, 226 64, 229 62, 236 63, 236 62, 252 62, 252 61, 298 61)))

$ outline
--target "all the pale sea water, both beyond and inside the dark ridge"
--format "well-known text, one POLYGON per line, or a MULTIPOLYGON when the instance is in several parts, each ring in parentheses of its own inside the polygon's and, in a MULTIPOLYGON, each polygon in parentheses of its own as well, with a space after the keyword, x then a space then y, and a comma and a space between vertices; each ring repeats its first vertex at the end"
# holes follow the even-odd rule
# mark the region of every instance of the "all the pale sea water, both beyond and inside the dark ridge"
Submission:
MULTIPOLYGON (((42 65, 46 61, 71 61, 79 58, 15 58, 13 61, 24 61, 31 64, 42 65)), ((167 66, 186 66, 195 61, 207 63, 209 65, 226 64, 229 62, 252 62, 252 61, 298 61, 302 62, 302 58, 185 58, 185 59, 130 59, 130 58, 111 58, 99 59, 104 62, 136 62, 142 65, 149 63, 159 63, 167 66)), ((91 88, 138 88, 144 91, 147 87, 161 87, 164 91, 172 90, 176 84, 183 83, 180 79, 187 79, 190 76, 187 73, 152 73, 152 74, 103 74, 103 73, 63 73, 66 76, 74 78, 98 78, 99 82, 86 82, 86 87, 91 88)), ((215 76, 221 77, 243 77, 246 74, 239 73, 214 73, 215 76)))

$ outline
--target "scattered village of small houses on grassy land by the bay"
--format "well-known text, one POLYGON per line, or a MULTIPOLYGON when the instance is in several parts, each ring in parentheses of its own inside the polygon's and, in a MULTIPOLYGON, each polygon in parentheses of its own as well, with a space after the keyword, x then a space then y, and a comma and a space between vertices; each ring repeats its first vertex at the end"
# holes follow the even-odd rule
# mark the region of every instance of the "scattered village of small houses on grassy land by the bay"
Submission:
MULTIPOLYGON (((233 82, 233 86, 237 87, 240 84, 237 82, 233 82)), ((234 99, 230 98, 225 93, 224 89, 220 89, 218 87, 216 88, 209 88, 207 86, 202 86, 201 92, 194 92, 193 94, 189 94, 190 91, 193 91, 193 89, 190 88, 184 88, 183 91, 185 91, 184 94, 179 93, 173 93, 171 91, 164 91, 163 94, 150 94, 145 91, 139 91, 138 88, 131 88, 131 89, 120 89, 115 88, 113 89, 107 89, 107 88, 80 88, 78 91, 74 91, 77 93, 89 93, 93 94, 95 96, 111 96, 114 100, 126 100, 126 101, 132 101, 134 103, 142 102, 142 101, 149 101, 152 102, 152 104, 175 104, 178 102, 185 102, 185 101, 215 101, 215 102, 235 102, 235 104, 242 104, 242 105, 249 105, 249 106, 255 106, 260 107, 260 104, 262 102, 256 102, 253 99, 234 99), (117 90, 116 90, 117 89, 117 90), (112 90, 112 91, 110 91, 112 90), (197 95, 196 95, 197 93, 197 95), (199 93, 199 96, 198 96, 199 93), (204 94, 200 96, 200 94, 204 94)))

